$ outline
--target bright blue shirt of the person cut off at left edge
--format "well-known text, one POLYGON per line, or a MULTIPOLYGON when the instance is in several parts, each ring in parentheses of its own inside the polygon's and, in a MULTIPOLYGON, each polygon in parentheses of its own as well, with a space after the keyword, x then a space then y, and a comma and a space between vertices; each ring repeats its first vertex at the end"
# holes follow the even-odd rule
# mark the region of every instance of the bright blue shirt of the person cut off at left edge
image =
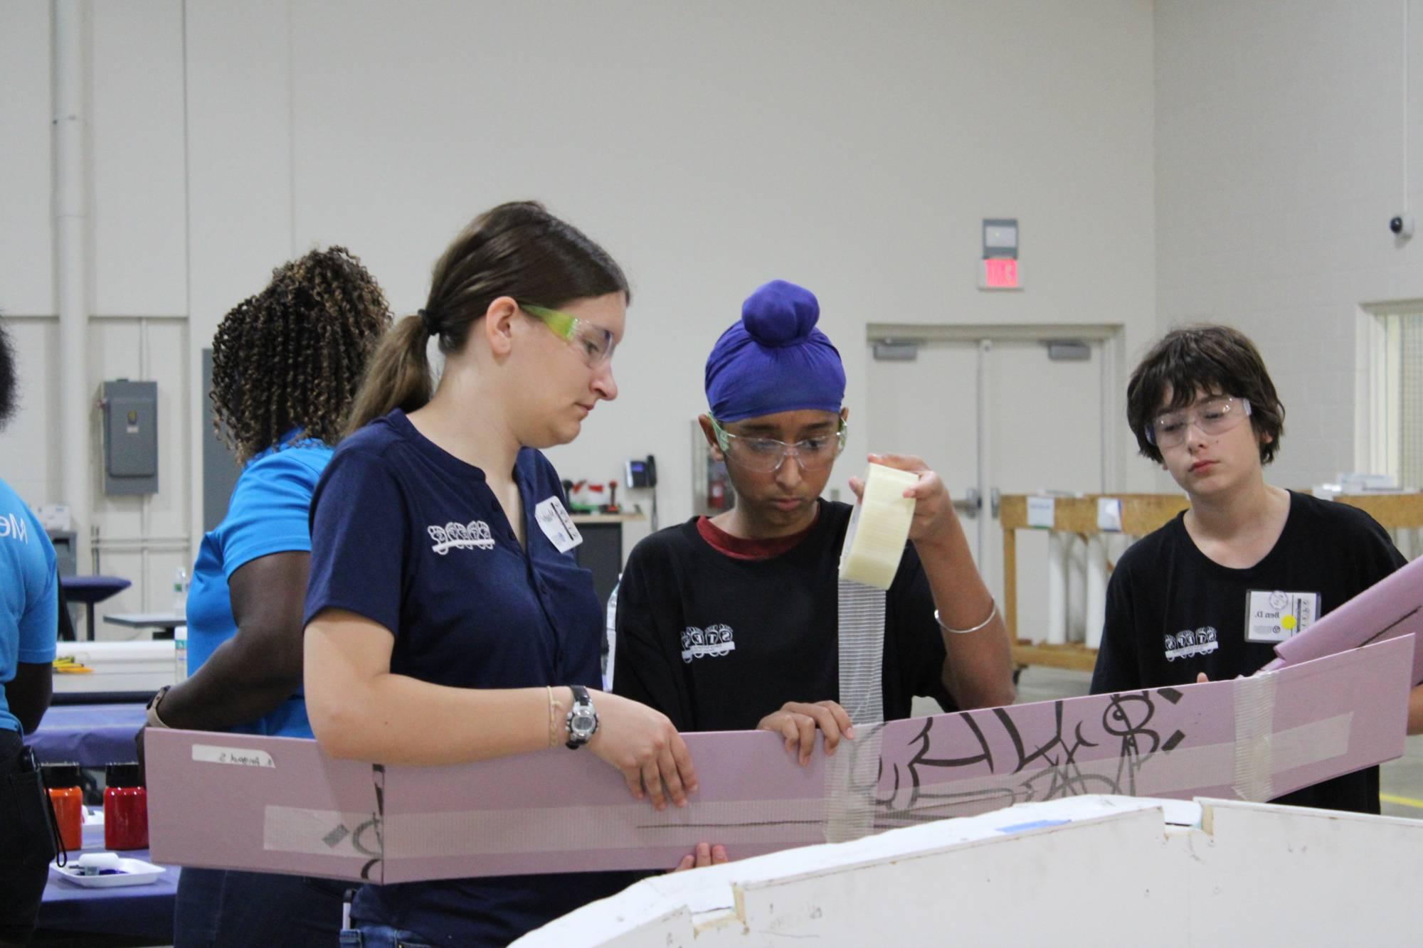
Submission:
POLYGON ((60 633, 58 575, 54 547, 40 521, 10 485, 0 481, 0 729, 20 730, 4 685, 16 665, 54 660, 60 633))

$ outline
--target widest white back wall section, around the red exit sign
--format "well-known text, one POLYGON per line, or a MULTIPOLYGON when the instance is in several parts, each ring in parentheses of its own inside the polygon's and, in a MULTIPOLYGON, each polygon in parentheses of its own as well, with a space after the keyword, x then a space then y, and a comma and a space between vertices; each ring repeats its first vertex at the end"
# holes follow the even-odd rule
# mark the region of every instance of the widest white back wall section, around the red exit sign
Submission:
POLYGON ((622 397, 554 460, 655 453, 667 522, 706 353, 766 279, 818 293, 861 418, 869 320, 1154 329, 1146 3, 340 9, 293 6, 296 245, 347 241, 410 312, 497 201, 586 228, 635 283, 622 397), (993 215, 1022 219, 1023 295, 976 289, 993 215))

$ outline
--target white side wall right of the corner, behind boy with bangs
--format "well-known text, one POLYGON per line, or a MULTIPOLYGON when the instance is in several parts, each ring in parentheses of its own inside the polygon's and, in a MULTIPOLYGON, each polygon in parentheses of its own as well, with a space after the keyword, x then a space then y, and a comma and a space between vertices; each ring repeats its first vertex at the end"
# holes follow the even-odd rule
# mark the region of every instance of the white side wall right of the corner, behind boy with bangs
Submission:
POLYGON ((1423 297, 1423 246, 1387 228, 1423 188, 1423 4, 1160 3, 1155 47, 1160 326, 1261 347, 1288 409, 1272 481, 1356 470, 1359 306, 1423 297))

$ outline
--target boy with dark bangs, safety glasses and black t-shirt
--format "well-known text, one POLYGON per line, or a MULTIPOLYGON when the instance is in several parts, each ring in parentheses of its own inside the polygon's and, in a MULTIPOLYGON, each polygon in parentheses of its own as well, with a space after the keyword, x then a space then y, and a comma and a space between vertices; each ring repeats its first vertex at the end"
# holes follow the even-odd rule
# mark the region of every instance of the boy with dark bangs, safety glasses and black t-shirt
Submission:
MULTIPOLYGON (((1127 421, 1191 507, 1117 562, 1094 695, 1254 675, 1276 642, 1405 564, 1362 510, 1265 483, 1285 406, 1238 330, 1168 333, 1131 373, 1127 421)), ((1419 730, 1423 688, 1409 703, 1409 732, 1419 730)), ((1379 769, 1275 803, 1377 813, 1379 769)))

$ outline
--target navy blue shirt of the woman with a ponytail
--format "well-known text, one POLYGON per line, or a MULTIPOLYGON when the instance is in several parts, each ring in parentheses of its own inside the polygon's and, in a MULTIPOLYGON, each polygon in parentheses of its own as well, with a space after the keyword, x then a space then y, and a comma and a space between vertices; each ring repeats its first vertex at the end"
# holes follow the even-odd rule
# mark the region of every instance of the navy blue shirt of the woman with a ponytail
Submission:
MULTIPOLYGON (((424 682, 598 688, 592 574, 534 518, 539 501, 564 498, 558 473, 525 448, 514 477, 527 549, 484 471, 435 447, 398 409, 342 441, 312 500, 306 621, 346 609, 379 622, 396 636, 391 672, 424 682)), ((507 945, 626 883, 564 874, 366 885, 354 917, 435 944, 507 945)))

